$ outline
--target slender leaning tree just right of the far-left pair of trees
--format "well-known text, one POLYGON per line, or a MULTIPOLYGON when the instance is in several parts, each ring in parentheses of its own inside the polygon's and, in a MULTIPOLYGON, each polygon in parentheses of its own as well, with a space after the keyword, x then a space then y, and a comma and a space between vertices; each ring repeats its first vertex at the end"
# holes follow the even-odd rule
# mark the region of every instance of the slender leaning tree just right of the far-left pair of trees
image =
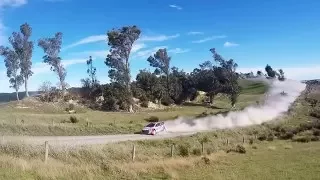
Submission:
POLYGON ((52 38, 39 39, 38 46, 40 46, 44 53, 43 62, 50 65, 50 69, 58 75, 60 88, 62 94, 66 93, 67 83, 65 82, 67 71, 63 67, 61 58, 59 57, 60 49, 62 45, 62 33, 58 32, 52 38))

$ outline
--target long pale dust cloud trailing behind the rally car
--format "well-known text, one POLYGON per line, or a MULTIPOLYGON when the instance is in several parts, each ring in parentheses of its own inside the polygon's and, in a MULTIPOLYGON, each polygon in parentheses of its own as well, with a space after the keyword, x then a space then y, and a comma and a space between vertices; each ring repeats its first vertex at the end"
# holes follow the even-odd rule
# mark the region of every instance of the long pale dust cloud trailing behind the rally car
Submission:
POLYGON ((242 111, 218 114, 198 119, 178 118, 166 121, 167 132, 198 132, 212 129, 243 127, 271 121, 288 111, 290 105, 305 89, 306 84, 295 80, 278 81, 264 80, 269 84, 264 102, 251 105, 242 111), (287 93, 281 95, 281 92, 287 93))

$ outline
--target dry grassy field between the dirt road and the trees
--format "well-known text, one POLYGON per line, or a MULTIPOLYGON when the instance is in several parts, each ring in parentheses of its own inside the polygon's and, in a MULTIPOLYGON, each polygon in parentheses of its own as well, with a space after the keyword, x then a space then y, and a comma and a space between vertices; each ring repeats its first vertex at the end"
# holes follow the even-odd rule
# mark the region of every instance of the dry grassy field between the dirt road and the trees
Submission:
MULTIPOLYGON (((260 100, 267 87, 263 83, 240 81, 242 93, 236 107, 244 108, 260 100)), ((219 113, 229 111, 228 99, 218 97, 214 107, 189 103, 184 106, 170 107, 165 110, 137 112, 93 111, 77 107, 77 113, 65 112, 65 104, 39 103, 24 100, 0 105, 0 135, 101 135, 125 134, 140 131, 147 118, 157 116, 160 120, 175 119, 178 116, 196 116, 202 112, 219 113), (70 116, 79 119, 76 124, 68 123, 70 116), (87 127, 87 121, 92 126, 87 127), (62 123, 63 122, 63 123, 62 123)))

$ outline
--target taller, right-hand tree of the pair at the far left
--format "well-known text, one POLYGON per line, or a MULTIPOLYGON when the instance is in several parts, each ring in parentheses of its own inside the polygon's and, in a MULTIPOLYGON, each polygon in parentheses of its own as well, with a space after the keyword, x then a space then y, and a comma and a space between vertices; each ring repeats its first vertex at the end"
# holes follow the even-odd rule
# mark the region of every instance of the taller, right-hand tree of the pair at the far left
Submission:
POLYGON ((33 42, 29 40, 31 34, 31 27, 29 26, 29 24, 24 23, 20 26, 20 32, 13 32, 12 36, 9 37, 9 42, 20 61, 20 73, 24 79, 25 92, 27 97, 29 96, 28 80, 33 74, 33 72, 31 71, 33 42))

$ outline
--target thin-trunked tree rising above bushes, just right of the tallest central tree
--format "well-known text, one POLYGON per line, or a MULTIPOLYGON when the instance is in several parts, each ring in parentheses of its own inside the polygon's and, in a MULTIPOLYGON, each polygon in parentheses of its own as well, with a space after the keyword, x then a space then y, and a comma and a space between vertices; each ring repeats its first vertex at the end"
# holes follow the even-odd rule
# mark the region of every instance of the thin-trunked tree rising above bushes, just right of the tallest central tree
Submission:
POLYGON ((155 67, 156 71, 166 76, 167 94, 170 92, 169 74, 170 74, 170 60, 167 49, 159 49, 153 56, 150 56, 147 61, 150 66, 155 67))

